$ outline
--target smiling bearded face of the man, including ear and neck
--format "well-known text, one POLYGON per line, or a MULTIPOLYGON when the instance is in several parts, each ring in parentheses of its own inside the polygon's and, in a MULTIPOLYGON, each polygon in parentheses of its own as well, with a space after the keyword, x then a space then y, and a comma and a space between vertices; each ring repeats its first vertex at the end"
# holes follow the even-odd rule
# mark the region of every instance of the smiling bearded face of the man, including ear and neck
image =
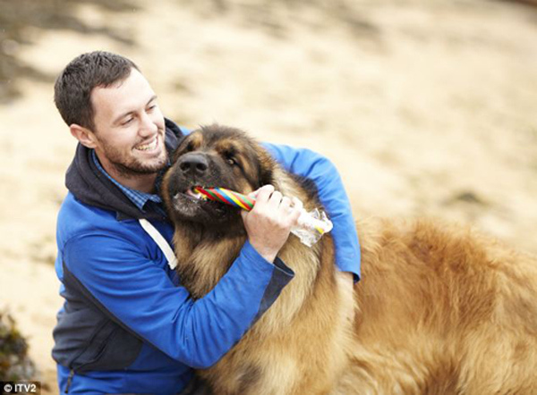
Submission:
POLYGON ((166 125, 157 95, 141 72, 91 92, 94 119, 90 127, 72 123, 72 135, 95 150, 100 164, 120 184, 151 192, 158 172, 167 161, 166 125), (98 130, 98 132, 97 132, 98 130))

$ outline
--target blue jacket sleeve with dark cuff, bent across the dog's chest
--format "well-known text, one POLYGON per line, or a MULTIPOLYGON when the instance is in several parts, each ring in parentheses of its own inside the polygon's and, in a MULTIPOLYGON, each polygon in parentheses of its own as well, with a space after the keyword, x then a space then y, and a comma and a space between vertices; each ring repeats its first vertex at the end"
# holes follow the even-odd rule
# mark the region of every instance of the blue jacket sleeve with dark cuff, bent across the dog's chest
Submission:
POLYGON ((64 246, 63 260, 98 308, 194 368, 215 364, 294 275, 278 259, 268 263, 246 242, 217 286, 193 300, 140 246, 121 235, 92 232, 73 237, 64 246))

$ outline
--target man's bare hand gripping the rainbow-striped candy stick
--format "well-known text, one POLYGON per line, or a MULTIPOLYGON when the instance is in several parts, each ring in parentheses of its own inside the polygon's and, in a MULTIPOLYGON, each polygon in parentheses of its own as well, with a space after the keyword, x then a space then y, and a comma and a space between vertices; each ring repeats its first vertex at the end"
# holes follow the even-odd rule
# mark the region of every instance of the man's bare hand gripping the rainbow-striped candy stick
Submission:
POLYGON ((291 199, 283 197, 272 185, 265 185, 249 196, 256 199, 255 206, 250 212, 241 213, 248 239, 260 256, 274 262, 296 225, 301 207, 291 206, 291 199))

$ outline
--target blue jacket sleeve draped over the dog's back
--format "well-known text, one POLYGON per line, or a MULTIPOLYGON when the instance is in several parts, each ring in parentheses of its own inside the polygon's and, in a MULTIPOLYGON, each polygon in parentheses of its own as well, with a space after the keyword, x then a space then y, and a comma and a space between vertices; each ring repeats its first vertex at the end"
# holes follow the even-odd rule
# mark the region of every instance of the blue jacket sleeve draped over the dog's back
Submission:
POLYGON ((349 199, 336 166, 326 157, 310 149, 263 143, 263 147, 287 171, 311 179, 317 186, 319 198, 334 223, 332 237, 336 247, 336 265, 342 272, 360 280, 360 243, 349 199))

